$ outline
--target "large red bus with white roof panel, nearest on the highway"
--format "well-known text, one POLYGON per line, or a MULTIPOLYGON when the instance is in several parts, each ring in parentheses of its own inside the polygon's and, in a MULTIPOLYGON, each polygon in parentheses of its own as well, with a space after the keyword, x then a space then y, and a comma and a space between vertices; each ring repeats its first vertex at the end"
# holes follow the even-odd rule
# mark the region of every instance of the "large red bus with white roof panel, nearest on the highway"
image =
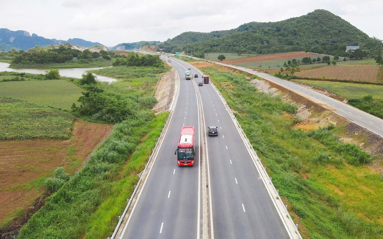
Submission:
POLYGON ((177 155, 177 164, 179 166, 192 166, 194 165, 194 127, 184 126, 181 129, 179 136, 178 148, 174 154, 177 155))

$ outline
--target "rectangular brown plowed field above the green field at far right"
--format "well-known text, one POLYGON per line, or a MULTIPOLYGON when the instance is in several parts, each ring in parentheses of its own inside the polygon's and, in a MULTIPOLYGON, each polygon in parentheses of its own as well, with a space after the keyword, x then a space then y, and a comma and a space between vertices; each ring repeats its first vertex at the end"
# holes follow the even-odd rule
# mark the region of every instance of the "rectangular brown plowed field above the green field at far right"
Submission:
POLYGON ((335 65, 296 72, 295 76, 311 79, 377 82, 378 65, 335 65))

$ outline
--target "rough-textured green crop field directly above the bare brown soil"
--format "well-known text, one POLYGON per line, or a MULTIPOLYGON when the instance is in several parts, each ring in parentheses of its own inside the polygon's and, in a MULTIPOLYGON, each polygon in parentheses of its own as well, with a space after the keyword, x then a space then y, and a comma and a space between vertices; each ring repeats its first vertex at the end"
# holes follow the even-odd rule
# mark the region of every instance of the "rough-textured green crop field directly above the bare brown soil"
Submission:
POLYGON ((69 139, 72 128, 68 113, 0 98, 0 140, 69 139))

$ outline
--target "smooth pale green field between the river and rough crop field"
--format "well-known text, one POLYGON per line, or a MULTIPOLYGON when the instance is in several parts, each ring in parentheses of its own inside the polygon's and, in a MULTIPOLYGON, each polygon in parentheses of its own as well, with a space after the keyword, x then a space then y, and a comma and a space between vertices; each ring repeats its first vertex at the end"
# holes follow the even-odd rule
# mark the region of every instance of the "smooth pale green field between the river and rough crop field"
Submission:
POLYGON ((70 110, 82 95, 81 88, 65 80, 0 82, 0 97, 10 97, 70 110))

